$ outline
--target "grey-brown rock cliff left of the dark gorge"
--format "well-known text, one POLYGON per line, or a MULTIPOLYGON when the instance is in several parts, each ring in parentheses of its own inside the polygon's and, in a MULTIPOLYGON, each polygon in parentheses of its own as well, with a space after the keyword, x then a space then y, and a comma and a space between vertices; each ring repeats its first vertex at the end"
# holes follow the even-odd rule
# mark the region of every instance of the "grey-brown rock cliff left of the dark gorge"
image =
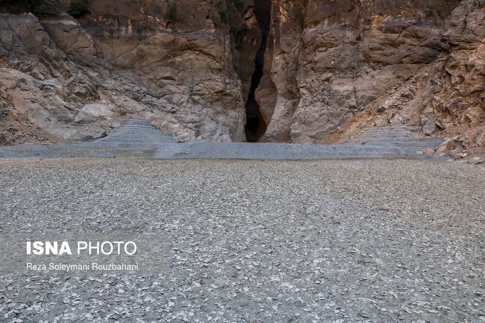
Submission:
POLYGON ((90 14, 78 20, 0 16, 7 117, 21 114, 76 139, 102 135, 130 112, 182 141, 245 140, 244 105, 261 42, 252 0, 238 8, 232 0, 87 3, 90 14), (88 117, 76 119, 93 104, 98 110, 89 106, 88 117))

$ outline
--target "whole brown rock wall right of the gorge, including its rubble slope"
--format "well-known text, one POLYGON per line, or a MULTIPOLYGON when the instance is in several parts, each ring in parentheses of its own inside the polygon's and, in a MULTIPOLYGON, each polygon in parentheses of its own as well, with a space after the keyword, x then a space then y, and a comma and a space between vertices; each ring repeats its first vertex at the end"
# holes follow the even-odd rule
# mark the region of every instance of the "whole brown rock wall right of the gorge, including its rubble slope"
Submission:
POLYGON ((426 135, 465 134, 460 153, 477 146, 480 1, 276 0, 272 21, 256 91, 267 126, 260 141, 339 143, 405 123, 426 135))

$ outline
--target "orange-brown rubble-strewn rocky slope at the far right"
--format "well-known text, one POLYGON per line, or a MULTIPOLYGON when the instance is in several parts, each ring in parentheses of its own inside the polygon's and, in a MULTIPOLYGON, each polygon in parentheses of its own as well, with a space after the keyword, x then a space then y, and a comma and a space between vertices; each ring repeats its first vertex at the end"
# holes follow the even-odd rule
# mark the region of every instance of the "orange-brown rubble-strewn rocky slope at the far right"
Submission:
POLYGON ((485 12, 462 1, 446 20, 442 52, 356 113, 320 143, 340 143, 382 124, 449 138, 436 151, 455 159, 485 154, 485 12))

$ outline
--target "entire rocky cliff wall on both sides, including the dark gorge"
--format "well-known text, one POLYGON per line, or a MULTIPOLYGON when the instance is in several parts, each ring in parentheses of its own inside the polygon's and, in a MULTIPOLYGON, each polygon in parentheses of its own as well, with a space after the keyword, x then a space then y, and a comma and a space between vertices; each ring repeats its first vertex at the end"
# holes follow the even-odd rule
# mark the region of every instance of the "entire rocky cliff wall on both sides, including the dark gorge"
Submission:
POLYGON ((485 147, 478 0, 87 3, 0 16, 0 125, 96 138, 136 113, 182 141, 347 143, 404 123, 454 138, 437 154, 485 147))

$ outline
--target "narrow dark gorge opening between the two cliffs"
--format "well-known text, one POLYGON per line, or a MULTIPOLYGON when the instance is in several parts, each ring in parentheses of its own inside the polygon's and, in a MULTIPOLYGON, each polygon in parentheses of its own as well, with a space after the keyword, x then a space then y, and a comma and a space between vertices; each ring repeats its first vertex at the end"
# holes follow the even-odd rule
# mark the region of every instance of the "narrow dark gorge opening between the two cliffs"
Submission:
POLYGON ((261 77, 263 77, 264 52, 266 51, 266 41, 270 30, 271 21, 271 0, 255 0, 254 14, 258 20, 259 28, 262 33, 261 46, 256 54, 255 70, 251 78, 251 89, 246 103, 246 140, 257 142, 266 131, 266 123, 259 110, 254 93, 258 88, 261 77))

